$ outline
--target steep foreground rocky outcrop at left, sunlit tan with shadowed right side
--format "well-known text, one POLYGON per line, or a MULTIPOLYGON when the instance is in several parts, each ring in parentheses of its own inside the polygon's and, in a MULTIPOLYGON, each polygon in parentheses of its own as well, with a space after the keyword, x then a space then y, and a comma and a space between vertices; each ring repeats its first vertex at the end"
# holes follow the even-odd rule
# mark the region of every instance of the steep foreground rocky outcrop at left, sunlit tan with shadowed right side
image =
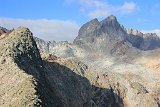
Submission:
POLYGON ((31 35, 18 28, 0 40, 0 106, 43 105, 42 61, 31 35))

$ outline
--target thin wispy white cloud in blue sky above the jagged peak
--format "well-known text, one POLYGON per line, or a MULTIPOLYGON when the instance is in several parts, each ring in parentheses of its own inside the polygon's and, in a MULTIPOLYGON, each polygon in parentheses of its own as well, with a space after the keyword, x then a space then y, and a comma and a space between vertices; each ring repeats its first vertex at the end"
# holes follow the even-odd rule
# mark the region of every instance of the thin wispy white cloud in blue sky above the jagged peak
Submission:
POLYGON ((122 5, 111 5, 101 0, 80 0, 83 10, 92 18, 107 17, 111 14, 130 14, 137 9, 134 2, 124 2, 122 5))

